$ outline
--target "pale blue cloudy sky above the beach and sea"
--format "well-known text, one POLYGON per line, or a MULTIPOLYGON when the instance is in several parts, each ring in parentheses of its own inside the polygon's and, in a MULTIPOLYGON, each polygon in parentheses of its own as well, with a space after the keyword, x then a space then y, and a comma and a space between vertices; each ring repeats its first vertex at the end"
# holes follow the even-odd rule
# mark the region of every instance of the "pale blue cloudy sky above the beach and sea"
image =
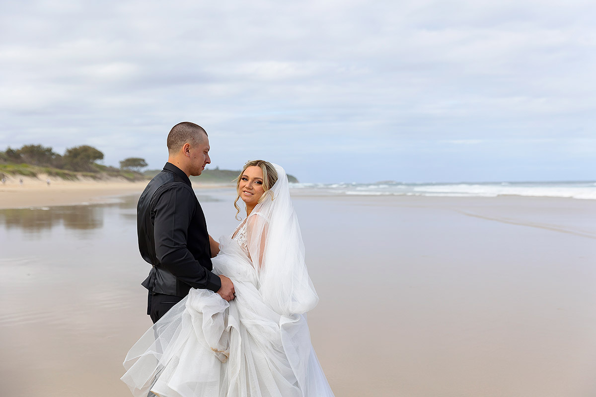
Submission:
POLYGON ((0 2, 0 150, 301 182, 596 180, 594 1, 0 2))

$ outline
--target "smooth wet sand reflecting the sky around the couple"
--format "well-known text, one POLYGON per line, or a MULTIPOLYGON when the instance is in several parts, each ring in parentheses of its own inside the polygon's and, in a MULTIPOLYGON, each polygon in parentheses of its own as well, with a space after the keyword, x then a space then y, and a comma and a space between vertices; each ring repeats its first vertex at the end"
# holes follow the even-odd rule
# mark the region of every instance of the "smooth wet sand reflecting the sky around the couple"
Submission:
MULTIPOLYGON (((596 394, 595 201, 312 193, 293 193, 309 325, 338 397, 596 394)), ((198 194, 231 232, 233 191, 198 194)), ((151 324, 135 204, 0 211, 6 395, 129 395, 151 324)))

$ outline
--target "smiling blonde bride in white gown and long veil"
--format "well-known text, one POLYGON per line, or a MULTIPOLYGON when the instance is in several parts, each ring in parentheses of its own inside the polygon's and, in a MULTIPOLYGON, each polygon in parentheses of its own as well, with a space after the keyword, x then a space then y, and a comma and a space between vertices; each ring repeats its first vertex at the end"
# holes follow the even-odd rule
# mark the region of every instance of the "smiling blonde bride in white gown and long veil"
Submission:
POLYGON ((157 321, 124 362, 135 396, 333 396, 306 323, 318 296, 285 171, 249 161, 237 191, 247 217, 213 258, 236 297, 191 289, 157 321))

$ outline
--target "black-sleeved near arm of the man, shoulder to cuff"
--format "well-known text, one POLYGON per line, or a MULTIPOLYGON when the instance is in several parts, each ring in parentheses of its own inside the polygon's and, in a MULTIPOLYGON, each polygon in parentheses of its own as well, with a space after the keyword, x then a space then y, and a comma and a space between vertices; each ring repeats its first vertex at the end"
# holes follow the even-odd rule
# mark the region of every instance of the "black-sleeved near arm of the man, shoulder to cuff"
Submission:
POLYGON ((184 187, 172 186, 157 198, 154 207, 154 240, 157 260, 164 269, 194 288, 217 292, 219 276, 203 267, 188 251, 188 226, 195 198, 184 187))

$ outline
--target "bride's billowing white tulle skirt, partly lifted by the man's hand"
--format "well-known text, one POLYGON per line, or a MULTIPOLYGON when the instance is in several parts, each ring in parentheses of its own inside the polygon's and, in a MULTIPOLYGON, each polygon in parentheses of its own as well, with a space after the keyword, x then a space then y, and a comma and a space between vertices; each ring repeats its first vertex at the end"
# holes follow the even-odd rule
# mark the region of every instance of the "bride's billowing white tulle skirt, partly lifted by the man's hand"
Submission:
POLYGON ((304 315, 266 304, 257 274, 232 240, 222 242, 214 272, 237 297, 191 289, 132 346, 122 377, 133 395, 163 397, 333 396, 312 348, 304 315))

